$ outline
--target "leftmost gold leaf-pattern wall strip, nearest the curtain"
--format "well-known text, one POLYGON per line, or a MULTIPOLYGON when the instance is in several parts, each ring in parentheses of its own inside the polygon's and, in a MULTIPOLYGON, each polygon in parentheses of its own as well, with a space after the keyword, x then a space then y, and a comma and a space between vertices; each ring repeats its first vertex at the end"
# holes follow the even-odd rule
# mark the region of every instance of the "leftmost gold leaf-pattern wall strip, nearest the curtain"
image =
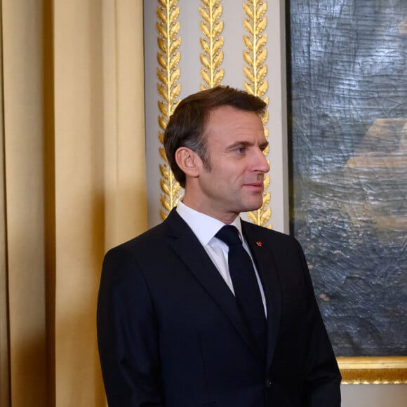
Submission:
MULTIPOLYGON (((164 144, 164 131, 168 124, 168 120, 173 114, 173 111, 178 104, 177 98, 181 93, 181 85, 178 84, 180 78, 180 63, 181 54, 178 51, 181 45, 181 38, 178 37, 180 32, 180 22, 178 17, 180 15, 180 8, 177 7, 178 0, 158 0, 160 6, 156 8, 156 15, 159 19, 156 23, 158 32, 157 42, 159 45, 159 52, 157 53, 157 61, 159 67, 157 68, 157 90, 161 96, 159 100, 159 140, 161 145, 164 144)), ((166 152, 164 147, 159 148, 159 154, 164 160, 164 164, 160 164, 160 186, 161 194, 160 201, 163 207, 160 210, 161 219, 165 219, 171 208, 178 204, 180 199, 181 187, 168 165, 166 152)))

